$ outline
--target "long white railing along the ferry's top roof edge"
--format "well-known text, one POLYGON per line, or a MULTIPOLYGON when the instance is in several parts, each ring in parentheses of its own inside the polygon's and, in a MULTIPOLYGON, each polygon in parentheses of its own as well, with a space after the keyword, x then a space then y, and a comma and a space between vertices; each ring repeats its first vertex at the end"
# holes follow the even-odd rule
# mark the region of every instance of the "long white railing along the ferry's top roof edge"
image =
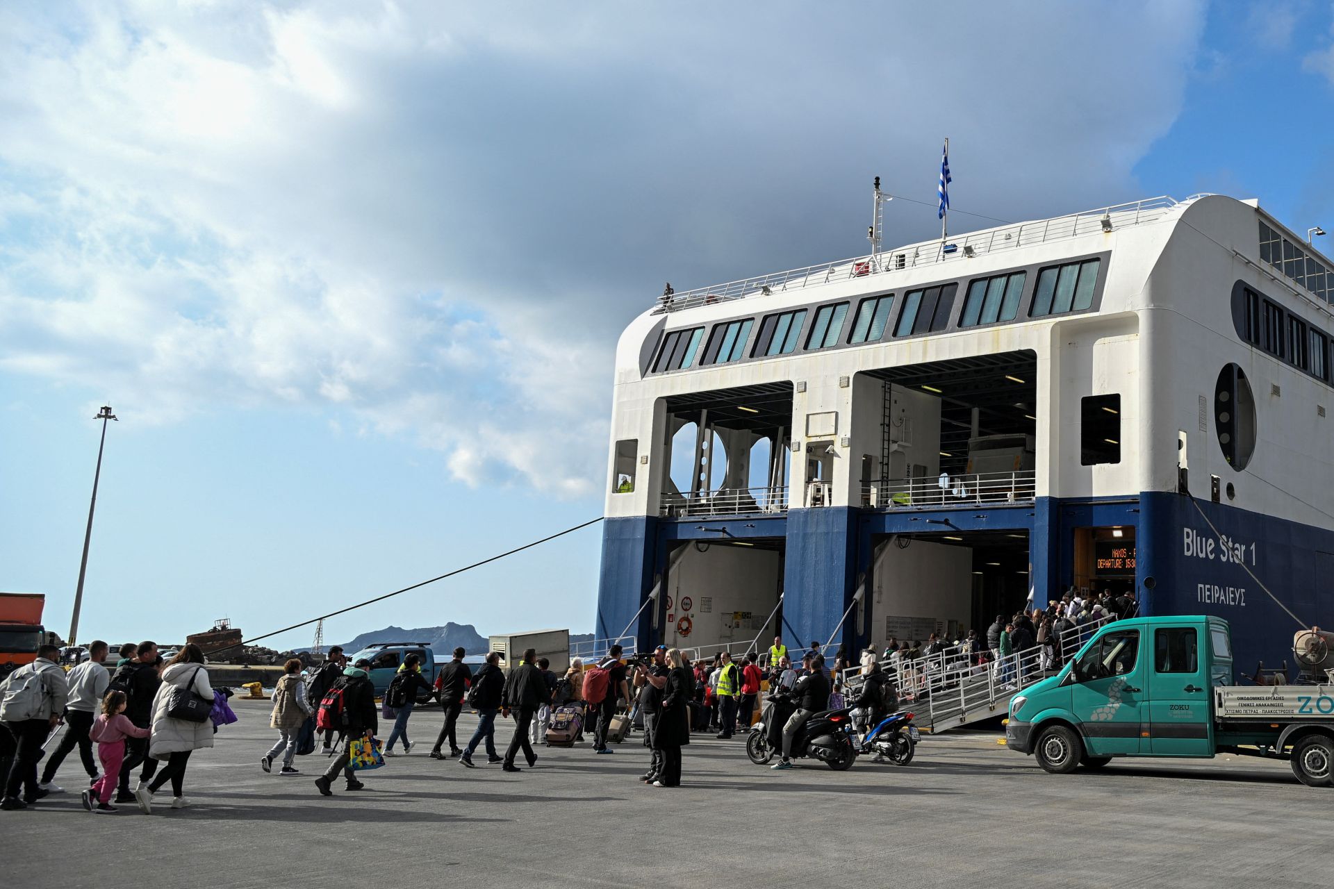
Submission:
POLYGON ((831 284, 834 281, 847 281, 856 277, 886 275, 939 263, 972 259, 983 253, 994 253, 1017 247, 1031 247, 1034 244, 1046 244, 1099 232, 1114 232, 1127 225, 1157 221, 1171 212, 1179 203, 1190 203, 1199 197, 1206 197, 1206 195, 1193 195, 1185 201, 1177 201, 1166 195, 1146 197, 1129 204, 1114 204, 1067 216, 1057 216, 1054 219, 983 229, 944 241, 910 244, 875 255, 806 265, 786 272, 774 272, 726 284, 682 291, 680 293, 664 293, 658 297, 655 313, 678 312, 680 309, 712 305, 715 303, 740 300, 751 296, 770 296, 772 293, 798 291, 819 284, 831 284))

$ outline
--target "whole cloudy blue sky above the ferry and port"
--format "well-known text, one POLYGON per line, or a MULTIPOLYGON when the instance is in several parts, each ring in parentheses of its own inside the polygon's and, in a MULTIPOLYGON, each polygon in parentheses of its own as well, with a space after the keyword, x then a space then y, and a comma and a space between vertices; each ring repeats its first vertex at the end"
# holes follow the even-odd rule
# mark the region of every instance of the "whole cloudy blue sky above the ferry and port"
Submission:
MULTIPOLYGON (((956 211, 1334 231, 1334 4, 938 5, 5 4, 0 589, 68 629, 101 404, 84 640, 256 634, 595 517, 620 328, 863 252, 871 177, 931 201, 942 136, 956 211)), ((325 632, 590 629, 599 549, 325 632)))

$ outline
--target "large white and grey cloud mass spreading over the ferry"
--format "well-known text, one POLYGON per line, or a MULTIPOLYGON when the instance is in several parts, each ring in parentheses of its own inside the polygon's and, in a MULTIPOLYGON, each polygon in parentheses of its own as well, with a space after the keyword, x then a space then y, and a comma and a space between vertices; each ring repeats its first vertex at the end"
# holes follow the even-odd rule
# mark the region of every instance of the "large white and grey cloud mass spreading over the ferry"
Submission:
POLYGON ((0 368, 160 421, 325 408, 468 484, 595 490, 615 336, 663 280, 862 251, 870 177, 930 196, 943 135, 962 209, 1134 197, 1201 21, 979 4, 942 44, 936 4, 11 5, 0 368))

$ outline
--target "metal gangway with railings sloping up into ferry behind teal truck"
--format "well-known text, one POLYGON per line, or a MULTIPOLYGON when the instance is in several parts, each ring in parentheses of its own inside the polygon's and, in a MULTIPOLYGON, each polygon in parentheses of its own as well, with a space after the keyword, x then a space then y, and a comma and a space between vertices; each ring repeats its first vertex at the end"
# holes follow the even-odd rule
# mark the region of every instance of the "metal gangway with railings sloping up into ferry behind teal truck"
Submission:
MULTIPOLYGON (((1061 636, 1061 644, 1045 644, 978 662, 963 645, 922 657, 895 657, 882 664, 895 681, 902 706, 911 709, 918 725, 939 734, 968 722, 1000 716, 1010 698, 1025 688, 1054 676, 1074 657, 1099 626, 1115 620, 1093 617, 1061 636)), ((843 672, 844 685, 855 686, 860 668, 843 672)))

